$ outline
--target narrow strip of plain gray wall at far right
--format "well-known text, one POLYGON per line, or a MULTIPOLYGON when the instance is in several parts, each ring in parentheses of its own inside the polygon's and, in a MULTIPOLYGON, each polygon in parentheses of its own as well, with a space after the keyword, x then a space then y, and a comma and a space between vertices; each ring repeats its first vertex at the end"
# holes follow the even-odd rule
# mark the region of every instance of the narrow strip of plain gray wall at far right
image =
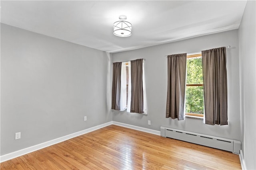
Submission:
POLYGON ((242 150, 247 169, 256 169, 256 3, 247 1, 239 27, 242 150))

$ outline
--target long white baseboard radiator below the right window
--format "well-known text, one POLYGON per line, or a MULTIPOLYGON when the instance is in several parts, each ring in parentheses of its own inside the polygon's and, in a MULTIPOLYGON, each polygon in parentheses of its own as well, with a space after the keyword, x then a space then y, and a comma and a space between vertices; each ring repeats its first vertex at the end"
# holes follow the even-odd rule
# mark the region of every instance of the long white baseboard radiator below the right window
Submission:
POLYGON ((240 141, 214 137, 214 136, 204 135, 200 133, 182 131, 182 130, 172 129, 168 127, 161 126, 161 136, 178 139, 180 141, 195 143, 195 144, 203 145, 206 147, 227 150, 229 152, 233 152, 234 154, 239 154, 241 150, 240 141))

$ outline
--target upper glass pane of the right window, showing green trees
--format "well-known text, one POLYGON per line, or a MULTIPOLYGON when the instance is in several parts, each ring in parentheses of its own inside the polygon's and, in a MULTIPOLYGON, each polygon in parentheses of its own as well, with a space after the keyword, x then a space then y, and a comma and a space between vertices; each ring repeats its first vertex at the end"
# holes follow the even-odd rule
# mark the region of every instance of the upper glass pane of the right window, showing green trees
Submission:
POLYGON ((202 58, 187 60, 187 84, 203 84, 202 58))

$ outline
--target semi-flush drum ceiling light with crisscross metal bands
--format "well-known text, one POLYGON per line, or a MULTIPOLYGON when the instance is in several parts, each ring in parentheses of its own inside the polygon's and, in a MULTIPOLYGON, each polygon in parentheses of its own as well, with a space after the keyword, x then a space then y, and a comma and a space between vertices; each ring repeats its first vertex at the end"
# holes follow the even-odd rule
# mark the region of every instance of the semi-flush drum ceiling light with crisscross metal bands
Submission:
POLYGON ((126 16, 119 16, 121 21, 114 22, 114 35, 119 37, 129 37, 132 35, 132 24, 130 22, 124 21, 127 19, 126 16))

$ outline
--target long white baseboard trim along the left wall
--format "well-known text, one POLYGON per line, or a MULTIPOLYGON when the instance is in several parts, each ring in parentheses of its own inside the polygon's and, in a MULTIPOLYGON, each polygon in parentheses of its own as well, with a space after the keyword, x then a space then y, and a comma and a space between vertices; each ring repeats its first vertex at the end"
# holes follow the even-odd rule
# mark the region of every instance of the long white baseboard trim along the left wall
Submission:
POLYGON ((39 150, 39 149, 49 147, 51 145, 66 141, 68 139, 72 139, 74 137, 78 137, 80 135, 84 135, 86 133, 95 131, 97 129, 101 129, 103 127, 106 127, 106 126, 109 126, 109 125, 112 125, 112 124, 113 124, 113 121, 110 121, 110 122, 107 122, 107 123, 104 123, 104 124, 101 124, 101 125, 98 125, 98 126, 94 126, 94 127, 88 128, 88 129, 84 129, 84 130, 76 132, 76 133, 72 133, 70 135, 66 135, 66 136, 63 136, 63 137, 59 137, 57 139, 53 139, 51 141, 47 141, 47 142, 44 142, 44 143, 40 143, 38 145, 34 145, 32 147, 24 148, 24 149, 21 149, 21 150, 17 150, 15 152, 11 152, 11 153, 8 153, 8 154, 1 155, 0 156, 0 162, 4 162, 4 161, 7 161, 7 160, 10 160, 10 159, 13 159, 13 158, 17 158, 18 156, 22 156, 24 154, 28 154, 30 152, 34 152, 34 151, 39 150))

